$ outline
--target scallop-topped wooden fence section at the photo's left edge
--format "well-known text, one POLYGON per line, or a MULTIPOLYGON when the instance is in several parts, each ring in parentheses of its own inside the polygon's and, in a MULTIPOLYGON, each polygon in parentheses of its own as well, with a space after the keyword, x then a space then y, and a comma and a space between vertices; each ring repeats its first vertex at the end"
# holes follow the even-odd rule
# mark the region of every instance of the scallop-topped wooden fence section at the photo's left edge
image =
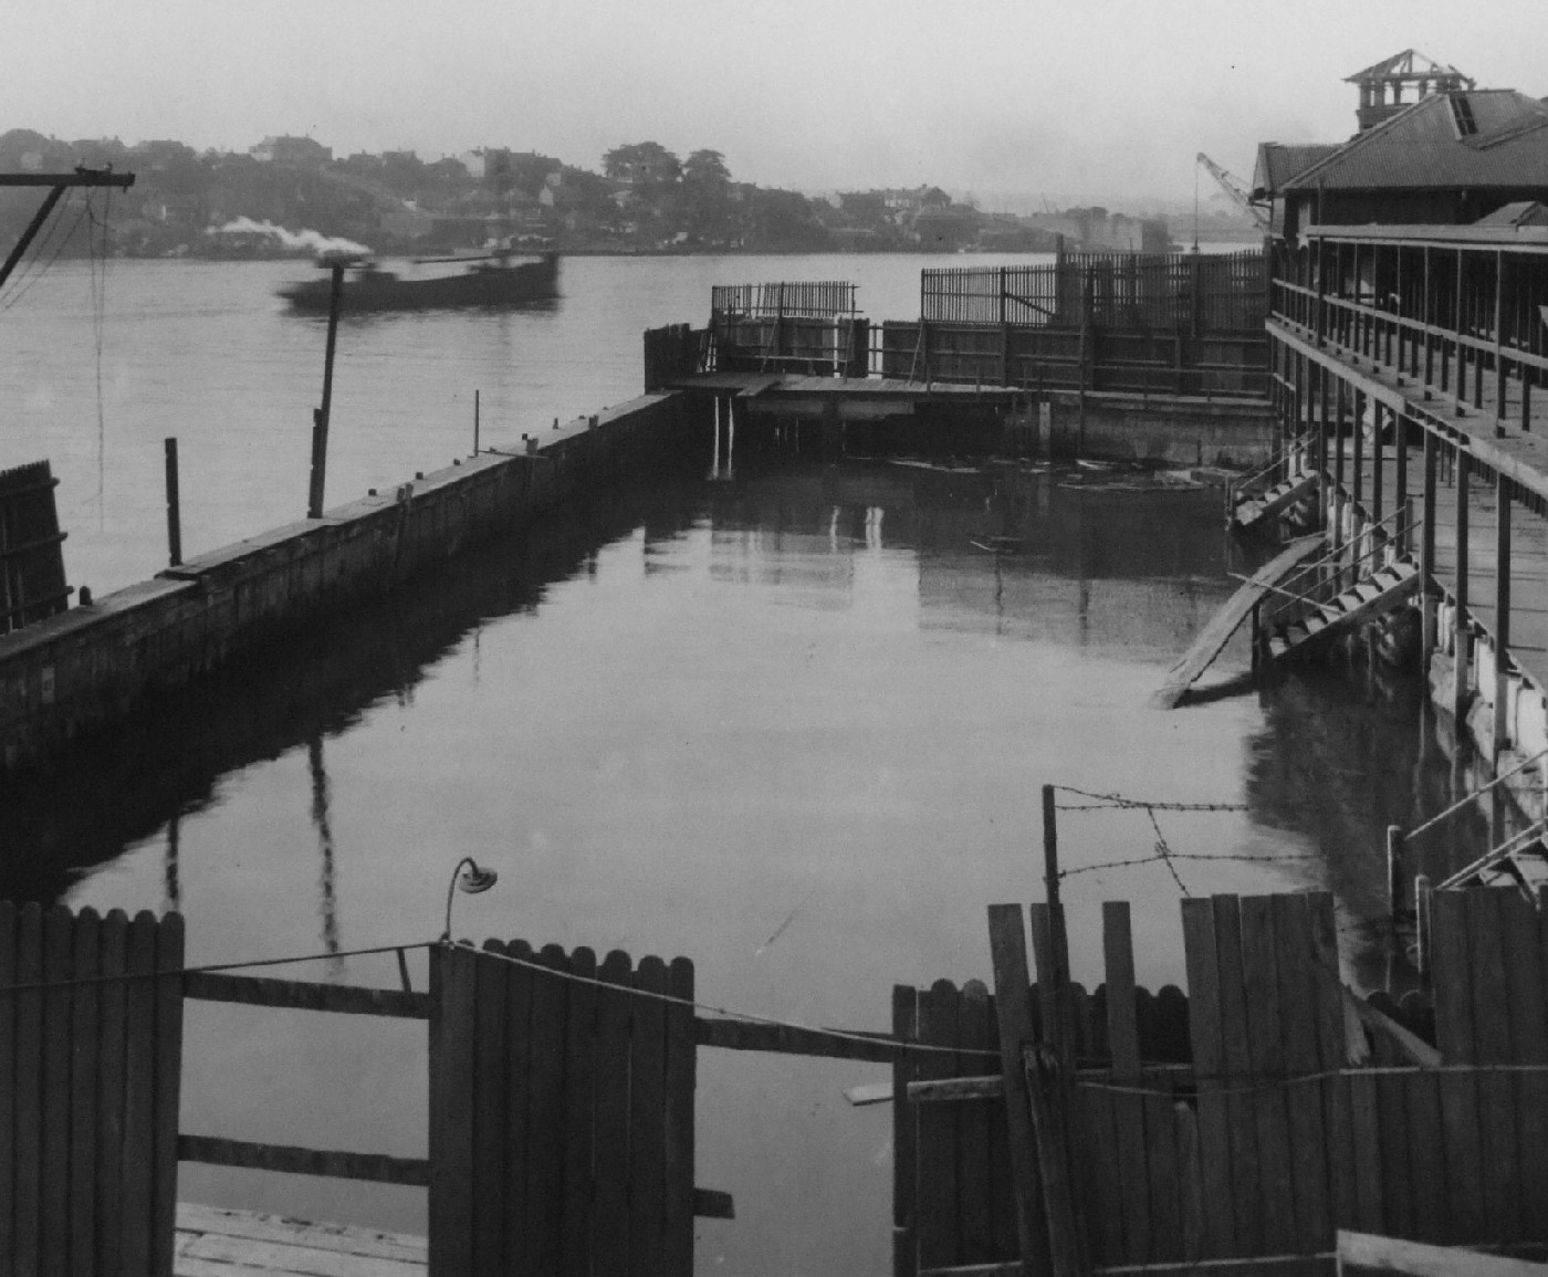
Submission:
POLYGON ((0 1274, 167 1277, 183 919, 0 902, 0 1274))

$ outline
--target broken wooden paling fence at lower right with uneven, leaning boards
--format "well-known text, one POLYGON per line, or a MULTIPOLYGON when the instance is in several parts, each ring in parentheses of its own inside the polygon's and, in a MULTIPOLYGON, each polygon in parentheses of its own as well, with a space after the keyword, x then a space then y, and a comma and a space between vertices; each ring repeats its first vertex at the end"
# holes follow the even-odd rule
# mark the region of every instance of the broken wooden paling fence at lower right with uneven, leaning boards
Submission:
POLYGON ((899 1150, 913 1141, 898 1209, 915 1244, 899 1241, 899 1274, 1015 1271, 1022 1254, 1054 1274, 1328 1263, 1339 1229, 1548 1243, 1548 921, 1531 902, 1435 893, 1433 1015, 1409 1008, 1410 1022, 1432 1020, 1433 1046, 1344 986, 1331 896, 1215 896, 1181 910, 1189 997, 1149 1000, 1149 1026, 1121 904, 1104 909, 1107 981, 1094 997, 1050 978, 1048 913, 1036 906, 1037 986, 1022 912, 997 906, 994 1000, 972 984, 895 995, 899 1031, 977 1046, 994 1040, 992 1008, 1000 1040, 1031 1048, 1003 1051, 998 1077, 966 1076, 969 1059, 935 1066, 960 1074, 949 1084, 899 1065, 896 1096, 915 1110, 896 1119, 899 1150), (995 1152, 1000 1133, 1009 1158, 995 1152), (1005 1173, 1022 1229, 1009 1254, 1005 1173))

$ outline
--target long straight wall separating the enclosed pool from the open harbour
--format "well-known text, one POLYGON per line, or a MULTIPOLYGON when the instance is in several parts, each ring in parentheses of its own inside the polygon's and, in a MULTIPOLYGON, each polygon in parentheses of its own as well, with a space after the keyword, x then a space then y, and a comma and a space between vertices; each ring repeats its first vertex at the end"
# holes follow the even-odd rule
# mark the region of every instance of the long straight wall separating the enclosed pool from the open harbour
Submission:
POLYGON ((707 443, 680 396, 646 395, 0 636, 0 763, 40 760, 158 689, 385 593, 582 486, 707 443))

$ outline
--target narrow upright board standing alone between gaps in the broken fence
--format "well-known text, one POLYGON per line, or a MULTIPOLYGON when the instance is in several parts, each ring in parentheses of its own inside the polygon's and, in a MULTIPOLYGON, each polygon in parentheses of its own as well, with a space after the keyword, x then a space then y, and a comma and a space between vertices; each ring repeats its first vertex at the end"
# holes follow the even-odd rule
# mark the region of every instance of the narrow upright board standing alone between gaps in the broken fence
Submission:
MULTIPOLYGON (((1107 989, 1107 1042, 1113 1054, 1111 1080, 1138 1087, 1139 1026, 1135 1017, 1135 952, 1130 935, 1128 904, 1102 904, 1102 957, 1107 989)), ((1118 1136, 1118 1203, 1122 1217, 1122 1258, 1149 1263, 1155 1258, 1150 1226, 1150 1197, 1146 1159, 1146 1097, 1115 1091, 1113 1124, 1118 1136)))

